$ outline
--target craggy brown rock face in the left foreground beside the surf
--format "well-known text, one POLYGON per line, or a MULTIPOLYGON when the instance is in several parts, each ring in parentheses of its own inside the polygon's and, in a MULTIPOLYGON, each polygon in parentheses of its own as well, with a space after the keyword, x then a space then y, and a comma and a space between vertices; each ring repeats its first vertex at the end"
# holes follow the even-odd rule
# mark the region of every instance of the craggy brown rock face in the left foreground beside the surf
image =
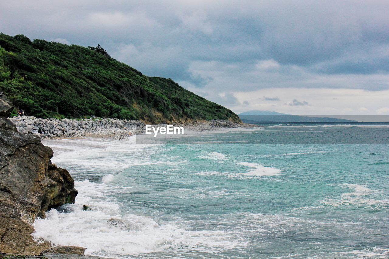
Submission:
POLYGON ((0 252, 39 254, 50 244, 33 240, 31 224, 51 208, 74 203, 78 192, 68 171, 51 163, 53 150, 7 119, 12 108, 0 92, 0 252))

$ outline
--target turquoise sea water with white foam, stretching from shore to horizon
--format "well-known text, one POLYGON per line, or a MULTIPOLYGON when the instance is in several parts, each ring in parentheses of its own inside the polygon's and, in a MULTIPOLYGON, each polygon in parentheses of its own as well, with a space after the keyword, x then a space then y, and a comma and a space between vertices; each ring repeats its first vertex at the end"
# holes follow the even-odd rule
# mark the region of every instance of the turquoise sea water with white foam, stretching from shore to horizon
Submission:
POLYGON ((389 124, 268 126, 45 141, 79 196, 35 236, 103 257, 388 258, 389 124))

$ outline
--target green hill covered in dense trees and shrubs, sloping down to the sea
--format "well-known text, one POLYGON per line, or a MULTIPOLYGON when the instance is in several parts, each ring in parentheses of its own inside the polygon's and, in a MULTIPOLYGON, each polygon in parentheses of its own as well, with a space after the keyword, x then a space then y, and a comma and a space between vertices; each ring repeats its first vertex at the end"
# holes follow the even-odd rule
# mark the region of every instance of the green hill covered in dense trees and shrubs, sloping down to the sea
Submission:
POLYGON ((0 91, 36 117, 117 117, 145 122, 230 119, 231 110, 148 77, 98 47, 0 33, 0 91))

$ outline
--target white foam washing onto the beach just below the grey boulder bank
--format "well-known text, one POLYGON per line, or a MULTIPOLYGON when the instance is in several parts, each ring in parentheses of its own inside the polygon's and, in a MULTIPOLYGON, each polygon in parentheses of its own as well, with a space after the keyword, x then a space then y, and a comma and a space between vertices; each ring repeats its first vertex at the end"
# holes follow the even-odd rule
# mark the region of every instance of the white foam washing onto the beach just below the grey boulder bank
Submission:
POLYGON ((45 140, 44 144, 54 148, 53 163, 74 166, 85 172, 99 170, 111 173, 137 165, 177 165, 185 162, 184 159, 155 161, 149 154, 161 152, 162 145, 135 144, 134 139, 61 139, 45 140))

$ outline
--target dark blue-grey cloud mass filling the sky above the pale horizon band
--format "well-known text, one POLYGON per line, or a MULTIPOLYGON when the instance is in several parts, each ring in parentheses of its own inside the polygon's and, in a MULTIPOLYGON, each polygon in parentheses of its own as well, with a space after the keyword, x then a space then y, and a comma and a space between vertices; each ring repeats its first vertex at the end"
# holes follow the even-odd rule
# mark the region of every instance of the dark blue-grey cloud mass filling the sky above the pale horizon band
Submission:
MULTIPOLYGON (((387 73, 388 8, 387 1, 374 0, 2 1, 0 30, 32 39, 101 44, 112 57, 146 75, 197 87, 215 82, 220 89, 236 89, 219 84, 220 73, 194 71, 193 62, 203 61, 223 63, 224 71, 247 80, 239 91, 296 87, 305 81, 304 87, 347 88, 351 82, 328 85, 312 77, 387 73), (276 66, 256 67, 261 60, 276 66), (259 83, 252 83, 253 78, 259 83)), ((352 87, 376 90, 387 84, 352 87)))

